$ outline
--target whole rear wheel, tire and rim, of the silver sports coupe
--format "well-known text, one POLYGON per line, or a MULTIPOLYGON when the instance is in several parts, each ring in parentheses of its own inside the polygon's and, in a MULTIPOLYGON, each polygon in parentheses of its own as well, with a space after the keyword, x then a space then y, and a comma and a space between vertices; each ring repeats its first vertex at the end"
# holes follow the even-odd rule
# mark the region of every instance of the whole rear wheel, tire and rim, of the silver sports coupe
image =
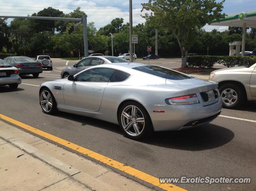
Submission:
POLYGON ((153 132, 148 112, 136 101, 124 103, 120 108, 118 117, 124 135, 131 139, 145 138, 153 132))

